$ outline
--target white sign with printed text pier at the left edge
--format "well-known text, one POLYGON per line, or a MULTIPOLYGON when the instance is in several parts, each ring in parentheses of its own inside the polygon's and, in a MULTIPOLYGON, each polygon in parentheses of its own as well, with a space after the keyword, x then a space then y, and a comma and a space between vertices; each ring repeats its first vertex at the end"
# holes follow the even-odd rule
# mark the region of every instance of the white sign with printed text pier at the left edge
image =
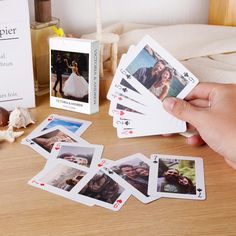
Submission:
POLYGON ((35 107, 28 0, 0 1, 0 106, 35 107))

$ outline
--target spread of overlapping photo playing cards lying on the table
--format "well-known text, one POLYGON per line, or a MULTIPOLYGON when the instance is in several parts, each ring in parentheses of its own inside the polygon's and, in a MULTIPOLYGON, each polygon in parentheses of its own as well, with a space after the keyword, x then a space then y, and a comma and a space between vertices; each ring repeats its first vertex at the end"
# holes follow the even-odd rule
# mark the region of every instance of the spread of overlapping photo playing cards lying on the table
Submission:
POLYGON ((50 115, 22 140, 47 159, 28 183, 83 203, 114 211, 135 196, 143 203, 161 197, 205 199, 201 158, 137 153, 117 161, 102 158, 102 145, 80 135, 91 122, 50 115))

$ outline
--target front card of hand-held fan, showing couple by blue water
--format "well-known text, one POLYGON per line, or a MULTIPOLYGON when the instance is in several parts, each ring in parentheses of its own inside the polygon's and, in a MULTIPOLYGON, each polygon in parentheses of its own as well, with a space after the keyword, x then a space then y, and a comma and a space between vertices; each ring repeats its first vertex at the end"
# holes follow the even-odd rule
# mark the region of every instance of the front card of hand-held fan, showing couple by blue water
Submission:
POLYGON ((146 35, 128 55, 120 71, 142 95, 162 101, 166 96, 184 99, 198 79, 146 35))

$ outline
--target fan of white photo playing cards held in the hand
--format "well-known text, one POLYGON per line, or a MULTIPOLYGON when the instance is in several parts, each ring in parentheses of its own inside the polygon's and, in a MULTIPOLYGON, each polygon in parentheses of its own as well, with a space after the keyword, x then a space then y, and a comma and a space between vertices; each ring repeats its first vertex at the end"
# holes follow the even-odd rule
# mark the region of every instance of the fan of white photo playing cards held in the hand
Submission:
POLYGON ((120 138, 179 133, 186 123, 162 107, 167 96, 184 99, 198 79, 150 36, 123 55, 109 89, 109 115, 120 138))

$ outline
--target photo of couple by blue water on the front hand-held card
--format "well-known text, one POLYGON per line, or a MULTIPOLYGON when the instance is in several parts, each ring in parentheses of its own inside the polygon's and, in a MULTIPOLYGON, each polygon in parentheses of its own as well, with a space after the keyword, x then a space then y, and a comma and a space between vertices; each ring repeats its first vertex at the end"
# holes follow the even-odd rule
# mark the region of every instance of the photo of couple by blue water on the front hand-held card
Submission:
POLYGON ((167 96, 178 96, 188 84, 188 80, 178 73, 177 68, 148 44, 126 70, 161 101, 167 96))

